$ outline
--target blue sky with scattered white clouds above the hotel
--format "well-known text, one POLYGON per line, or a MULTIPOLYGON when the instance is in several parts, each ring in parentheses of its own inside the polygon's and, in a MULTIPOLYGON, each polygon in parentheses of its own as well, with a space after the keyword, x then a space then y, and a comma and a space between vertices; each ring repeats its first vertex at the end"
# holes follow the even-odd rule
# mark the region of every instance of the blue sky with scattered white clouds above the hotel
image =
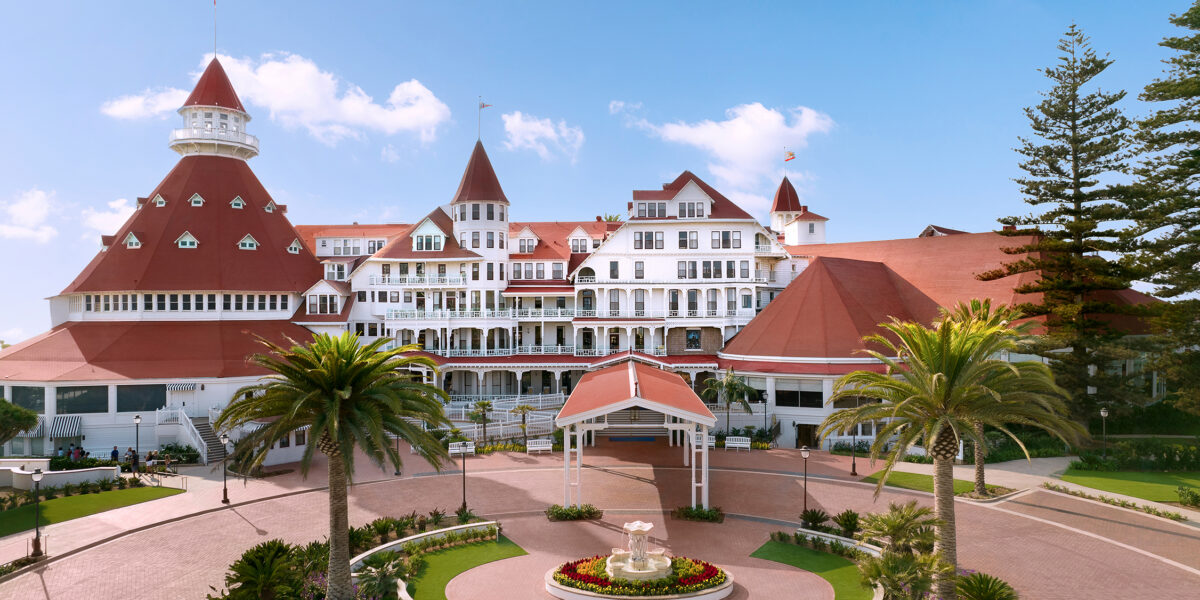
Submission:
MULTIPOLYGON (((1012 148, 1072 22, 1136 92, 1183 1, 234 2, 217 52, 294 223, 406 222, 482 139, 515 220, 623 211, 691 169, 766 217, 786 172, 830 241, 986 230, 1025 212, 1012 148), (748 6, 742 6, 748 5, 748 6), (395 100, 396 103, 390 103, 395 100), (784 145, 797 160, 782 162, 784 145)), ((0 340, 56 294, 178 156, 208 0, 7 4, 0 37, 0 340)))

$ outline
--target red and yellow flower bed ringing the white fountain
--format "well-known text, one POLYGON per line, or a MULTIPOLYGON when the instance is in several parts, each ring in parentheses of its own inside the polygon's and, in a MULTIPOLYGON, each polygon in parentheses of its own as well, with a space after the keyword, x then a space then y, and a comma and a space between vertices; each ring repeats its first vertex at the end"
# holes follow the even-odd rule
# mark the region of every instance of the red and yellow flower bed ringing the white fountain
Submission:
POLYGON ((608 596, 665 596, 695 594, 728 581, 721 569, 703 560, 685 557, 671 559, 671 575, 661 580, 610 580, 605 574, 608 556, 594 556, 564 563, 553 572, 560 586, 608 596))

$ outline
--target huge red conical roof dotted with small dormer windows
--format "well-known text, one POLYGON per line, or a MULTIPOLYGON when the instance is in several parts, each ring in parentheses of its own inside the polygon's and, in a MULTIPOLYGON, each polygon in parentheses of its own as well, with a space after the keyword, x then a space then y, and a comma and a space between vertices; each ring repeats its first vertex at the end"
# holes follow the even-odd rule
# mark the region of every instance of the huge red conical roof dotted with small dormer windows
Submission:
POLYGON ((322 278, 320 264, 306 248, 292 254, 287 247, 299 238, 282 211, 266 212, 270 194, 240 158, 191 155, 155 187, 150 198, 118 229, 119 241, 98 252, 64 294, 122 290, 246 290, 304 292, 322 278), (188 202, 204 198, 202 206, 188 202), (230 206, 241 197, 242 209, 230 206), (139 248, 120 241, 137 230, 139 248), (180 248, 175 240, 191 233, 199 245, 180 248), (240 250, 250 234, 258 250, 240 250))

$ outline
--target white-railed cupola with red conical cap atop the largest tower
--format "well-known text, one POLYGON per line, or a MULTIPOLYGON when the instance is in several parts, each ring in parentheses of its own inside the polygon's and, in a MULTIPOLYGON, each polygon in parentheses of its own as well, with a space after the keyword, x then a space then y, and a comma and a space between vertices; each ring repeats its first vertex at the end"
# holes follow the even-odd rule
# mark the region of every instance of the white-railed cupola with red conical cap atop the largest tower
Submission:
POLYGON ((221 62, 212 58, 179 109, 184 127, 170 132, 170 149, 184 155, 258 156, 258 138, 246 133, 250 113, 241 106, 221 62))

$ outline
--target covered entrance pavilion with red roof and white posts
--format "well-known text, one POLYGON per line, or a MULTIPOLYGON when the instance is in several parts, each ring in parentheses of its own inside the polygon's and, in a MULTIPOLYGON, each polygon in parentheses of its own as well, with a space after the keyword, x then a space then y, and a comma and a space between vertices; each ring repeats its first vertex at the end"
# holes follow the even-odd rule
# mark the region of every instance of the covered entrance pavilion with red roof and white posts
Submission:
POLYGON ((707 508, 708 430, 716 419, 679 374, 635 360, 586 373, 554 419, 554 425, 563 428, 563 505, 583 504, 583 446, 588 434, 594 443, 598 432, 613 425, 610 414, 630 408, 662 415, 659 422, 620 422, 619 427, 666 428, 670 444, 678 442, 683 448, 684 467, 691 467, 691 505, 707 508))

